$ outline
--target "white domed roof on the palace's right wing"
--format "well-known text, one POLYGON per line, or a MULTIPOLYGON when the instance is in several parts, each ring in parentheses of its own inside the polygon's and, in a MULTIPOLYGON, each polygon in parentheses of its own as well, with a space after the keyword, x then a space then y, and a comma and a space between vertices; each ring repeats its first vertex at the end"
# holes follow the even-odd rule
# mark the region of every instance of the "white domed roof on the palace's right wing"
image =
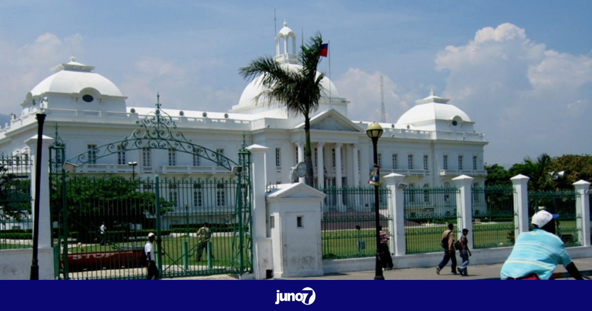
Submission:
POLYGON ((435 121, 447 121, 454 126, 462 123, 473 123, 471 118, 455 105, 448 104, 448 98, 437 97, 430 93, 429 97, 416 101, 417 105, 403 114, 397 121, 399 126, 421 126, 435 121))

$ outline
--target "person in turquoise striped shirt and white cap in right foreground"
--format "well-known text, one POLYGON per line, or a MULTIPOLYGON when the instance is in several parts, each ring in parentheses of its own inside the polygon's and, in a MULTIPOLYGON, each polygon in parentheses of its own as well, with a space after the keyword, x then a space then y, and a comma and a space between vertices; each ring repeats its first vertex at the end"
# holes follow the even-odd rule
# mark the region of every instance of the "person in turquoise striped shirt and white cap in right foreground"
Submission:
POLYGON ((532 216, 533 230, 520 233, 514 248, 501 267, 502 280, 549 280, 558 264, 562 264, 571 277, 584 280, 565 245, 555 235, 557 214, 539 210, 532 216))

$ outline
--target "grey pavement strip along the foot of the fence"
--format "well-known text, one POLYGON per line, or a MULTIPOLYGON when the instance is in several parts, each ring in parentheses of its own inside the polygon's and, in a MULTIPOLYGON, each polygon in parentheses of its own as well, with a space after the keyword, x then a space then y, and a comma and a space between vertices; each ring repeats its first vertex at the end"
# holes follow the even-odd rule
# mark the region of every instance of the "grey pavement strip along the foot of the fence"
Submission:
MULTIPOLYGON (((580 271, 592 270, 592 258, 572 259, 575 267, 580 271)), ((471 265, 468 266, 469 275, 451 274, 450 263, 442 268, 440 275, 436 274, 436 267, 433 268, 409 268, 400 270, 382 271, 385 280, 483 280, 500 278, 500 270, 503 264, 495 265, 471 265)), ((555 272, 567 272, 562 265, 559 265, 555 272)), ((375 271, 348 272, 321 277, 294 277, 281 278, 281 280, 374 280, 375 271)), ((573 278, 570 278, 573 280, 573 278)))

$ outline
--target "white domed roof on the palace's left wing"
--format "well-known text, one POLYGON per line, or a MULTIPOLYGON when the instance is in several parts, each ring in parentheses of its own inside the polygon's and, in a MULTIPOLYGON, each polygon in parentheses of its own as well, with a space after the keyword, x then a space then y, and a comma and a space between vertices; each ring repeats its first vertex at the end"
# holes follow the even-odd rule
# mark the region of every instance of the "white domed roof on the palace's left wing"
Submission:
POLYGON ((95 89, 102 96, 123 97, 113 82, 98 73, 91 72, 94 66, 75 62, 70 57, 69 63, 63 63, 52 69, 53 75, 41 81, 31 90, 31 95, 46 92, 77 94, 83 89, 95 89))

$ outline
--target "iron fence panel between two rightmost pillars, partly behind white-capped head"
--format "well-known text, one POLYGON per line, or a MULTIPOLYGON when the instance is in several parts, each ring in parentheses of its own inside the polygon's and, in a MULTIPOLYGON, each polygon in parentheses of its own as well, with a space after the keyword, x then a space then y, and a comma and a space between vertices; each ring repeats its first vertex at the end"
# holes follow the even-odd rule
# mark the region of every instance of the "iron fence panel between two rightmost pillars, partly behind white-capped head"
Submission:
POLYGON ((556 235, 561 238, 566 247, 580 246, 582 241, 579 241, 578 236, 580 236, 579 233, 584 232, 581 232, 582 228, 578 227, 578 220, 581 220, 582 215, 577 213, 575 204, 579 196, 580 194, 574 190, 529 192, 529 218, 543 207, 549 213, 559 214, 556 219, 556 235))

